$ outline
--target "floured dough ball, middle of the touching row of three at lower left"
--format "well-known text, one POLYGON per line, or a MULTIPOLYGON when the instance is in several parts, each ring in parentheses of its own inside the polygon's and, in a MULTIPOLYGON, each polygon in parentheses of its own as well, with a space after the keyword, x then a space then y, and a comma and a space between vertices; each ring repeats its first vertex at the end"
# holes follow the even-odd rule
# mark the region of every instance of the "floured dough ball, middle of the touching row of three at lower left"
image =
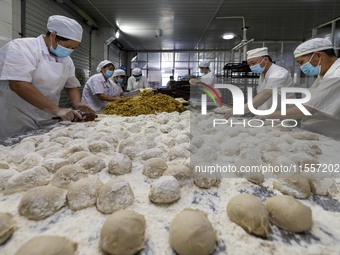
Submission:
POLYGON ((95 178, 82 179, 70 185, 67 202, 71 210, 81 210, 96 204, 102 182, 95 178))

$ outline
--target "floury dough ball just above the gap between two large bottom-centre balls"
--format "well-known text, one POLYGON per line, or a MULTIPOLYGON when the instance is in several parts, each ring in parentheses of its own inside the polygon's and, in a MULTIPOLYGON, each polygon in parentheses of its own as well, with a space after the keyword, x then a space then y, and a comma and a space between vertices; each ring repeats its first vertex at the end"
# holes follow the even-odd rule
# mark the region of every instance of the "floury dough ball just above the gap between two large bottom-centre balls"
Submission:
POLYGON ((173 176, 162 176, 151 184, 149 199, 153 203, 172 203, 178 200, 180 196, 179 183, 173 176))

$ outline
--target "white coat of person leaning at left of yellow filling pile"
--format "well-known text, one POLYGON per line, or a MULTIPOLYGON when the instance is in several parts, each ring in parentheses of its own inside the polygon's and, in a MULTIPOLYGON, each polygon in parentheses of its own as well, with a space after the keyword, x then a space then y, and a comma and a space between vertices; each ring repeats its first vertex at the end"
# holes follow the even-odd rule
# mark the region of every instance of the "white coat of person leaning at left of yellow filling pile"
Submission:
POLYGON ((110 79, 105 80, 102 73, 94 74, 85 84, 81 102, 89 105, 95 111, 100 111, 108 102, 100 100, 96 95, 120 96, 123 90, 120 86, 119 90, 117 86, 118 84, 113 83, 110 79))

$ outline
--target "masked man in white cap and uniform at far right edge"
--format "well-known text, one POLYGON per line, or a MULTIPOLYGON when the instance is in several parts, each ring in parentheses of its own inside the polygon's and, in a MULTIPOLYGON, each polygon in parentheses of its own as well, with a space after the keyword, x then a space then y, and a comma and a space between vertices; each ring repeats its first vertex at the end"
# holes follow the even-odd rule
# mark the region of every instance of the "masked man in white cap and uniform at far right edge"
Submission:
POLYGON ((295 49, 294 57, 303 73, 317 76, 310 89, 311 99, 303 104, 312 115, 305 116, 294 105, 285 116, 274 112, 266 118, 301 119, 301 128, 340 140, 340 59, 332 43, 311 39, 295 49))

